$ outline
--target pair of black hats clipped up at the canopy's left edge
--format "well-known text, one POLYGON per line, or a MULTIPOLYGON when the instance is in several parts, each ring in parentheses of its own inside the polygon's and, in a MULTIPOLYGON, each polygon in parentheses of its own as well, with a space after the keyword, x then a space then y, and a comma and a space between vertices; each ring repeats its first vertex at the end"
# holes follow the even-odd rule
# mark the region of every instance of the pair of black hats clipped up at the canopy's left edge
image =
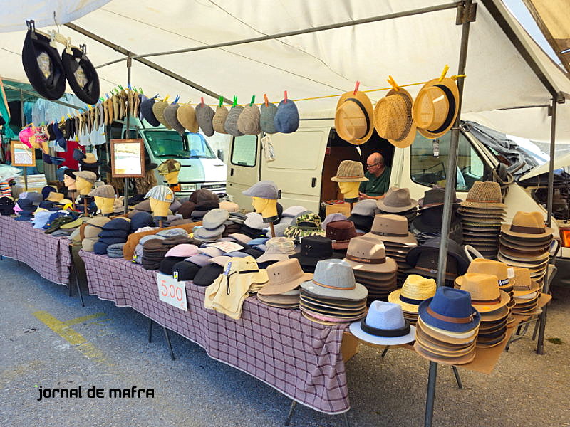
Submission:
POLYGON ((36 31, 33 20, 26 21, 28 32, 22 48, 22 65, 28 80, 40 95, 58 100, 66 91, 66 79, 80 100, 94 104, 99 99, 99 77, 87 58, 86 45, 71 46, 71 38, 56 31, 36 31), (56 41, 66 45, 59 55, 56 41))

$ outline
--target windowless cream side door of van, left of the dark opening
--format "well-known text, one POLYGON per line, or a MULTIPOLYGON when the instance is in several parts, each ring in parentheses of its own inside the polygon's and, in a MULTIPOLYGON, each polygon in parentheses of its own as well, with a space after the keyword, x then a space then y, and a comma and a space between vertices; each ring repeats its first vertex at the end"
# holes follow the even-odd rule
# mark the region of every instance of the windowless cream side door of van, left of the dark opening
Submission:
POLYGON ((301 205, 318 212, 326 145, 331 127, 304 127, 292 134, 270 135, 275 159, 261 156, 261 179, 281 188, 284 209, 301 205))

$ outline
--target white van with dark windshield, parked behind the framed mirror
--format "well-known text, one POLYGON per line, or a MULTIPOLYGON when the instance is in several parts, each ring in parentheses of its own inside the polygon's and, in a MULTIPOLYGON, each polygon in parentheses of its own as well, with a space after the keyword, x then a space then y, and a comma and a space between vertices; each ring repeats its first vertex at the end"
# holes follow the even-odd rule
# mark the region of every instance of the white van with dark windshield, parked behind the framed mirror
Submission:
MULTIPOLYGON (((175 130, 163 126, 152 127, 147 122, 136 119, 130 121, 130 128, 131 138, 142 138, 145 142, 150 162, 157 165, 167 159, 180 162, 182 167, 178 175, 178 195, 188 196, 197 189, 208 189, 215 193, 226 192, 227 167, 223 162, 223 152, 218 150, 217 154, 214 154, 204 135, 186 132, 181 137, 175 130)), ((126 137, 126 126, 114 122, 111 139, 126 137)), ((166 184, 156 170, 155 175, 159 184, 166 184)))

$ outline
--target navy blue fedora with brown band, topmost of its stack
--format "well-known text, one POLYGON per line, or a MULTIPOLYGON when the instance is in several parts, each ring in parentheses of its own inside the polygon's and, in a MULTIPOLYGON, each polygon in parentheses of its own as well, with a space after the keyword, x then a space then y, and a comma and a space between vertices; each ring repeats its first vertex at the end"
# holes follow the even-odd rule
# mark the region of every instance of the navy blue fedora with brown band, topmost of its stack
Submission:
POLYGON ((471 305, 469 292, 437 288, 435 295, 420 303, 420 319, 444 331, 467 332, 479 326, 481 315, 471 305))

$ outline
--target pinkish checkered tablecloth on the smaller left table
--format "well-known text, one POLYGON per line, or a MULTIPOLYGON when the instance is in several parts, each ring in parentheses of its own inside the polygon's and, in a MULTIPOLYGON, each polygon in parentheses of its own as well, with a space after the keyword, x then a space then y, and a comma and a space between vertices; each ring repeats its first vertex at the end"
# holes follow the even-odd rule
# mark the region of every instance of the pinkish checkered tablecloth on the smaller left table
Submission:
POLYGON ((33 228, 31 222, 0 216, 0 255, 29 265, 47 280, 68 285, 69 239, 53 237, 43 231, 43 228, 33 228))

